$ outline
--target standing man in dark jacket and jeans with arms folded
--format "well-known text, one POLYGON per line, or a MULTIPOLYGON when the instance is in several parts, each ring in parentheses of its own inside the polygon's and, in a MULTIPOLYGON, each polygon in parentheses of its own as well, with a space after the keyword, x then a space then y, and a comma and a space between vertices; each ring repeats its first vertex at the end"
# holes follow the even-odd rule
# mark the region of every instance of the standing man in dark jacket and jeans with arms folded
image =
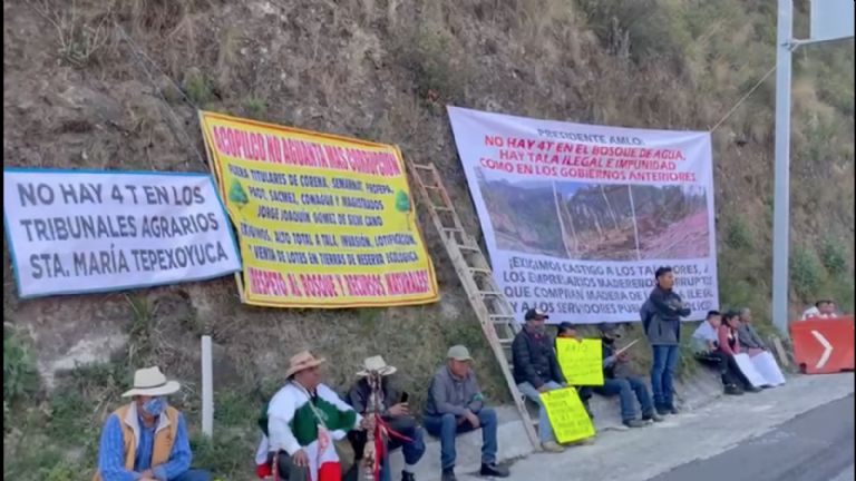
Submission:
POLYGON ((681 317, 690 315, 681 296, 675 293, 674 273, 671 267, 660 267, 654 274, 656 286, 640 312, 648 341, 653 350, 651 363, 651 390, 654 408, 660 414, 678 414, 674 406, 674 367, 678 365, 678 344, 681 340, 681 317))

